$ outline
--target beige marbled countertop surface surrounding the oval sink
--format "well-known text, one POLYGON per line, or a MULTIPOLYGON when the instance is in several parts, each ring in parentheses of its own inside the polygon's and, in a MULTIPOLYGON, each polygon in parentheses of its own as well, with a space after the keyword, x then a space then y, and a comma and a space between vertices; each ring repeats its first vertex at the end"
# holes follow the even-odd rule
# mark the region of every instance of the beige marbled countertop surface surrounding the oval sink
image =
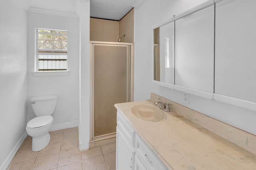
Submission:
POLYGON ((177 113, 164 111, 166 120, 151 122, 131 111, 133 106, 154 106, 153 103, 144 100, 115 104, 115 107, 168 169, 256 170, 254 154, 177 113))

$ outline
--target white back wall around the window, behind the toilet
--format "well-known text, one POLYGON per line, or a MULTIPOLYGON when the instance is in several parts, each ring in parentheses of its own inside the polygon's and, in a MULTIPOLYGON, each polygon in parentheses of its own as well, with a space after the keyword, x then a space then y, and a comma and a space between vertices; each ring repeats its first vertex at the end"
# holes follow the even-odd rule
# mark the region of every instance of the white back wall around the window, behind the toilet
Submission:
POLYGON ((79 121, 79 18, 28 12, 28 117, 36 117, 29 102, 34 96, 58 95, 52 125, 79 121), (68 30, 67 76, 34 77, 35 28, 68 30))

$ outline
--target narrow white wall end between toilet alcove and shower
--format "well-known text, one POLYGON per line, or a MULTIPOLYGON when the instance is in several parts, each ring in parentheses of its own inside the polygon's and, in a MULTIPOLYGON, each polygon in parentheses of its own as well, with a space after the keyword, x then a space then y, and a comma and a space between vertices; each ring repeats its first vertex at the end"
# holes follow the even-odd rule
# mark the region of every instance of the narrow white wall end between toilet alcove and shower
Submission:
POLYGON ((90 1, 80 3, 80 150, 90 142, 90 1))

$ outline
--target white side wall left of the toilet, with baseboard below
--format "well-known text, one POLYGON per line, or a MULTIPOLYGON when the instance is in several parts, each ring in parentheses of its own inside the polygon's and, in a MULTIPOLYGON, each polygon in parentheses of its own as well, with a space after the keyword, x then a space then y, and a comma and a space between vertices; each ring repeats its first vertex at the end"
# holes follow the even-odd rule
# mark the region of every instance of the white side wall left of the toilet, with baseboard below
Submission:
POLYGON ((0 169, 26 132, 27 12, 22 3, 0 5, 0 169))

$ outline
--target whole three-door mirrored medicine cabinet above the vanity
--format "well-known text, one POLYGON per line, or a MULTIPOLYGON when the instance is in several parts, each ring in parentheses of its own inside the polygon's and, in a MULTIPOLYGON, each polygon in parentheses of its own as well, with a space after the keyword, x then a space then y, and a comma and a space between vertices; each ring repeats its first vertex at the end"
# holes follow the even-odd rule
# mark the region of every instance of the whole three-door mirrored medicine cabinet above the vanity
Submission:
POLYGON ((256 1, 208 0, 153 27, 153 82, 256 111, 256 1))

